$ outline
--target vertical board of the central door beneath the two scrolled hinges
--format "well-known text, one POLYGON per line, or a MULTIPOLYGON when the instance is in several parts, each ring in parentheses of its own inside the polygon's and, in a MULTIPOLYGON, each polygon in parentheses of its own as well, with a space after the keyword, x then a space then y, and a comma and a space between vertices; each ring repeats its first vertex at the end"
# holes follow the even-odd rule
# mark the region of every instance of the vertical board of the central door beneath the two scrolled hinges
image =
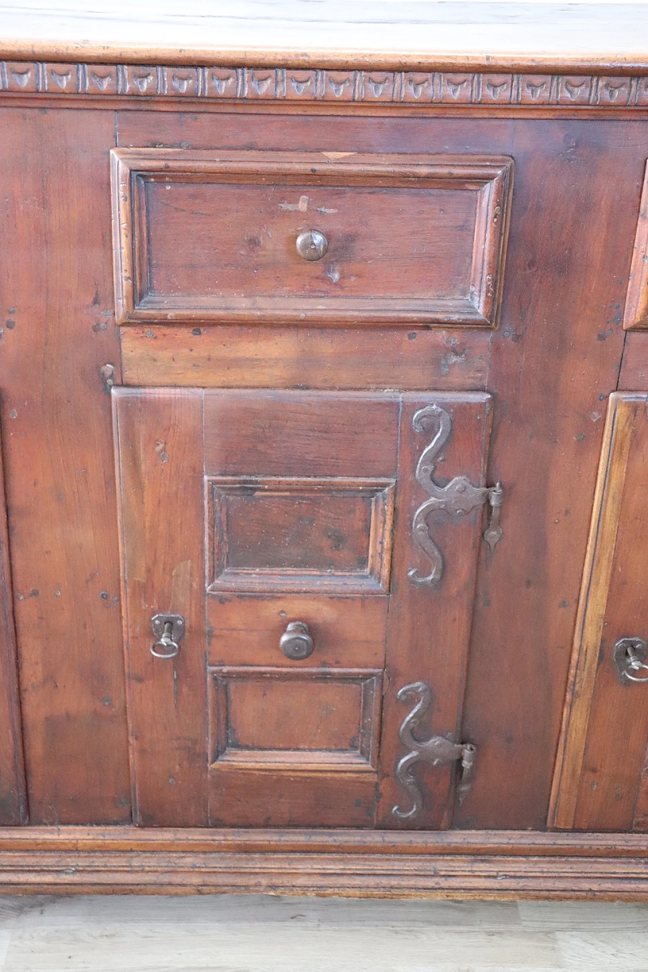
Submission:
MULTIPOLYGON (((453 815, 453 786, 457 763, 430 766, 420 762, 413 769, 421 793, 421 807, 415 810, 411 796, 397 779, 396 767, 408 754, 399 737, 401 726, 416 707, 422 726, 415 735, 426 739, 447 735, 455 742, 470 743, 461 736, 462 702, 468 644, 477 574, 477 556, 483 543, 484 509, 475 506, 467 515, 453 517, 445 510, 431 509, 426 517, 426 535, 433 540, 440 557, 438 580, 417 582, 432 572, 426 551, 416 542, 414 519, 429 500, 417 481, 416 471, 426 450, 426 468, 434 481, 447 482, 455 475, 466 476, 474 486, 483 486, 491 433, 491 397, 481 394, 404 395, 400 421, 398 500, 394 533, 392 588, 388 619, 386 673, 389 690, 383 711, 383 739, 380 764, 378 825, 383 827, 442 828, 453 815), (421 410, 436 406, 435 414, 420 418, 421 410), (450 421, 443 434, 439 413, 450 421), (434 464, 438 468, 434 470, 434 464), (430 693, 431 712, 425 696, 416 688, 424 682, 430 693), (397 698, 400 689, 414 686, 411 697, 397 698), (394 814, 394 809, 403 815, 394 814)), ((503 552, 503 551, 502 551, 503 552)), ((495 556, 499 553, 496 551, 495 556)), ((479 752, 475 773, 479 773, 479 752)), ((469 799, 469 798, 468 798, 469 799)))

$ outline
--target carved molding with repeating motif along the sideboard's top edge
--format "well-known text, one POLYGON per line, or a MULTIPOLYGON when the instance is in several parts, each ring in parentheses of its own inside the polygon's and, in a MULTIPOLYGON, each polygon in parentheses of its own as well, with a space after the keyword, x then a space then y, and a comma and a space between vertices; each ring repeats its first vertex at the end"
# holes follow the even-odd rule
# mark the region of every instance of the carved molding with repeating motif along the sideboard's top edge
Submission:
MULTIPOLYGON (((144 55, 143 55, 143 60, 144 55)), ((235 62, 232 62, 235 63, 235 62)), ((424 65, 426 62, 421 61, 424 65)), ((261 66, 262 65, 262 66, 261 66)), ((445 67, 440 61, 437 67, 445 67)), ((0 61, 0 92, 87 100, 123 98, 198 102, 406 104, 477 108, 648 108, 648 77, 640 75, 489 73, 472 70, 333 70, 326 67, 228 67, 70 61, 0 61)), ((540 72, 551 68, 540 67, 540 72)), ((567 68, 568 69, 568 68, 567 68)), ((630 68, 631 69, 631 68, 630 68)), ((578 65, 574 71, 578 70, 578 65)), ((605 70, 605 65, 601 65, 605 70)), ((617 70, 619 70, 617 68, 617 70)), ((641 70, 644 70, 642 67, 641 70)))

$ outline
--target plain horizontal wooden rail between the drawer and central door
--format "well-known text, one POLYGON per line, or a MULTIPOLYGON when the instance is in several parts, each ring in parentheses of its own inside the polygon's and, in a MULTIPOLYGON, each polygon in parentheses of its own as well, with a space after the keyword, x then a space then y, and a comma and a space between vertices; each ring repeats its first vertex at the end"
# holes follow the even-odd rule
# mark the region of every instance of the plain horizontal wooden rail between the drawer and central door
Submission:
POLYGON ((486 388, 488 330, 192 328, 121 330, 124 385, 204 388, 486 388))

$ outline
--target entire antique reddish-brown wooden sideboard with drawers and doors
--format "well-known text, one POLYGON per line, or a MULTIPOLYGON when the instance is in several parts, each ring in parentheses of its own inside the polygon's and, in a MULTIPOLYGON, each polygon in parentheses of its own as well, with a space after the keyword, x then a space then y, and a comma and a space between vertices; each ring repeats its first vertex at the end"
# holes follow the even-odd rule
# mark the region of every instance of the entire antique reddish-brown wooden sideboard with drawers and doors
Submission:
POLYGON ((648 896, 646 13, 396 6, 6 21, 3 890, 648 896))

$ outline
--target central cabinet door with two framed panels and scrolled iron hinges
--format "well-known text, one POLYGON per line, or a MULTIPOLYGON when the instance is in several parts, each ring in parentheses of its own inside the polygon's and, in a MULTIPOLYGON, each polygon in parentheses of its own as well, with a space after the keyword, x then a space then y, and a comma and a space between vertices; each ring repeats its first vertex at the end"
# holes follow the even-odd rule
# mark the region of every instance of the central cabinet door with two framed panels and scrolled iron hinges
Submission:
POLYGON ((448 826, 489 396, 114 404, 137 820, 448 826))

